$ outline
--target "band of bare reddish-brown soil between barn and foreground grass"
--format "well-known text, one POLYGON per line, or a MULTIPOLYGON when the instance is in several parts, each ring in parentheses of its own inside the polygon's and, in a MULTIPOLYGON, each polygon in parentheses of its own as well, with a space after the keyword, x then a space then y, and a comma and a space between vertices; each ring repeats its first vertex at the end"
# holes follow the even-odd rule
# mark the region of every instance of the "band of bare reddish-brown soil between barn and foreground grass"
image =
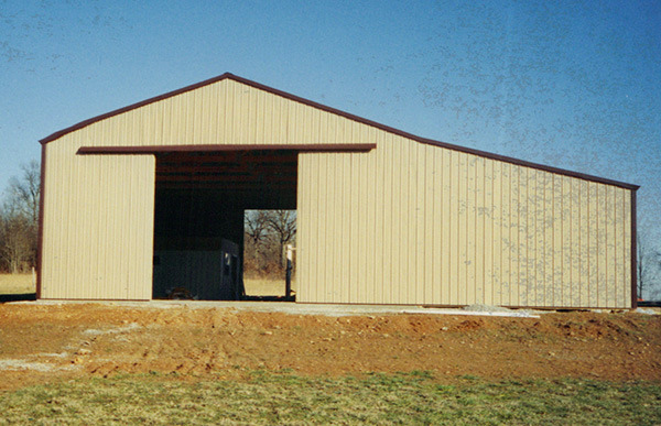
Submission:
POLYGON ((661 316, 327 317, 221 308, 0 305, 0 390, 117 373, 231 378, 426 370, 441 381, 661 381, 661 316))

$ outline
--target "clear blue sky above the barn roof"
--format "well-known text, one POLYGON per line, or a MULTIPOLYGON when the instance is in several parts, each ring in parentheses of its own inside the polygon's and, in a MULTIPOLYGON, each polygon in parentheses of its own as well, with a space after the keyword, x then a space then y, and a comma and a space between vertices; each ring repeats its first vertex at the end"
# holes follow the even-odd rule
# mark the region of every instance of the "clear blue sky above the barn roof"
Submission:
POLYGON ((425 138, 641 185, 661 1, 0 0, 0 188, 37 140, 230 72, 425 138))

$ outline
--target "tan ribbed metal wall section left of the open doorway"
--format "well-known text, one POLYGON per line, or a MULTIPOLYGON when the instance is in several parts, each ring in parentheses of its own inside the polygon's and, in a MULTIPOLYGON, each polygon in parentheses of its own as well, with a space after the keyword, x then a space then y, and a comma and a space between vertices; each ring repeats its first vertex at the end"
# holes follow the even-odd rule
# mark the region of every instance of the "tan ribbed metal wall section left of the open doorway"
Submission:
POLYGON ((154 157, 45 149, 41 297, 150 299, 154 157))

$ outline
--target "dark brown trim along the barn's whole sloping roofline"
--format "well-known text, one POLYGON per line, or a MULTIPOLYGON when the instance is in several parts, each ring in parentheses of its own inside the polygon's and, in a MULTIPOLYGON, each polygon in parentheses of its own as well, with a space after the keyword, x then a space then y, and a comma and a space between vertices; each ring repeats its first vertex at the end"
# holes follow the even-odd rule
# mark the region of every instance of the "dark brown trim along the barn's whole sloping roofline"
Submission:
POLYGON ((414 140, 416 142, 424 143, 424 144, 427 144, 427 145, 441 146, 441 148, 445 148, 445 149, 453 150, 453 151, 465 152, 465 153, 468 153, 468 154, 474 154, 474 155, 483 156, 483 157, 486 157, 486 159, 498 160, 498 161, 502 161, 502 162, 506 162, 506 163, 511 163, 511 164, 516 164, 516 165, 520 165, 520 166, 524 166, 524 167, 537 168, 537 170, 541 170, 541 171, 545 171, 545 172, 550 172, 550 173, 555 173, 555 174, 560 174, 560 175, 576 177, 576 178, 584 179, 584 181, 590 181, 590 182, 597 182, 597 183, 602 183, 602 184, 606 184, 606 185, 619 186, 619 187, 622 187, 622 188, 626 188, 626 189, 636 190, 636 189, 639 188, 638 185, 627 184, 625 182, 606 179, 606 178, 603 178, 603 177, 599 177, 599 176, 593 176, 593 175, 587 175, 587 174, 584 174, 584 173, 572 172, 572 171, 567 171, 567 170, 564 170, 564 168, 551 167, 551 166, 543 165, 543 164, 532 163, 532 162, 528 162, 528 161, 523 161, 523 160, 519 160, 519 159, 513 159, 513 157, 509 157, 509 156, 505 156, 505 155, 499 155, 499 154, 492 154, 492 153, 489 153, 489 152, 474 150, 474 149, 469 149, 469 148, 465 148, 465 146, 459 146, 459 145, 454 145, 454 144, 451 144, 451 143, 435 141, 435 140, 432 140, 432 139, 420 138, 420 136, 416 136, 414 134, 404 132, 402 130, 394 129, 394 128, 391 128, 389 125, 384 125, 384 124, 381 124, 381 123, 378 123, 376 121, 371 121, 371 120, 368 120, 368 119, 365 119, 365 118, 361 118, 361 117, 358 117, 358 116, 354 116, 351 113, 348 113, 348 112, 345 112, 345 111, 340 111, 338 109, 330 108, 330 107, 327 107, 325 105, 322 105, 322 103, 318 103, 318 102, 315 102, 315 101, 312 101, 312 100, 308 100, 308 99, 304 99, 304 98, 301 98, 301 97, 292 95, 292 94, 288 94, 286 91, 282 91, 282 90, 269 87, 269 86, 264 86, 264 85, 262 85, 260 83, 257 83, 257 81, 252 81, 252 80, 239 77, 239 76, 235 76, 234 74, 230 74, 230 73, 225 73, 225 74, 223 74, 220 76, 217 76, 217 77, 214 77, 214 78, 209 78, 207 80, 204 80, 204 81, 191 85, 191 86, 186 86, 186 87, 183 87, 183 88, 177 89, 177 90, 169 91, 169 92, 166 92, 164 95, 156 96, 154 98, 150 98, 150 99, 143 100, 141 102, 133 103, 133 105, 130 105, 128 107, 120 108, 120 109, 117 109, 115 111, 110 111, 110 112, 107 112, 105 114, 90 118, 88 120, 82 121, 82 122, 79 122, 77 124, 74 124, 72 127, 68 127, 66 129, 57 131, 57 132, 55 132, 55 133, 53 133, 53 134, 51 134, 51 135, 42 139, 40 142, 42 144, 48 143, 48 142, 54 141, 54 140, 56 140, 56 139, 58 139, 58 138, 61 138, 61 136, 63 136, 63 135, 65 135, 67 133, 71 133, 71 132, 73 132, 75 130, 85 128, 85 127, 87 127, 89 124, 93 124, 93 123, 95 123, 97 121, 100 121, 100 120, 104 120, 104 119, 107 119, 107 118, 110 118, 110 117, 113 117, 113 116, 118 116, 118 114, 120 114, 122 112, 127 112, 127 111, 130 111, 132 109, 140 108, 140 107, 143 107, 145 105, 156 102, 159 100, 163 100, 163 99, 176 96, 176 95, 181 95, 181 94, 184 94, 186 91, 191 91, 191 90, 197 89, 199 87, 204 87, 204 86, 207 86, 207 85, 210 85, 210 84, 224 80, 226 78, 229 78, 229 79, 232 79, 235 81, 242 83, 242 84, 245 84, 247 86, 251 86, 251 87, 254 87, 257 89, 261 89, 261 90, 271 92, 273 95, 278 95, 278 96, 281 96, 283 98, 286 98, 286 99, 290 99, 290 100, 293 100, 293 101, 296 101, 296 102, 301 102, 303 105, 307 105, 310 107, 317 108, 317 109, 321 109, 323 111, 330 112, 333 114, 337 114, 337 116, 347 118, 349 120, 357 121, 357 122, 360 122, 362 124, 367 124, 367 125, 370 125, 370 127, 383 130, 386 132, 389 132, 389 133, 392 133, 392 134, 397 134, 397 135, 402 136, 402 138, 411 139, 411 140, 414 140))

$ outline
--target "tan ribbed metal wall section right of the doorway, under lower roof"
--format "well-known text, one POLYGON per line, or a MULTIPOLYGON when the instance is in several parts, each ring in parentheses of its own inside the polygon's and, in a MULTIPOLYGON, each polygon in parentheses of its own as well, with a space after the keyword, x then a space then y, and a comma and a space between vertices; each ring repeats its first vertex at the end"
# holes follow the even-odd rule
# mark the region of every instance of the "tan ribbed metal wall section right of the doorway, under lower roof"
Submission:
POLYGON ((379 133, 299 161, 299 301, 630 307, 630 190, 379 133))

